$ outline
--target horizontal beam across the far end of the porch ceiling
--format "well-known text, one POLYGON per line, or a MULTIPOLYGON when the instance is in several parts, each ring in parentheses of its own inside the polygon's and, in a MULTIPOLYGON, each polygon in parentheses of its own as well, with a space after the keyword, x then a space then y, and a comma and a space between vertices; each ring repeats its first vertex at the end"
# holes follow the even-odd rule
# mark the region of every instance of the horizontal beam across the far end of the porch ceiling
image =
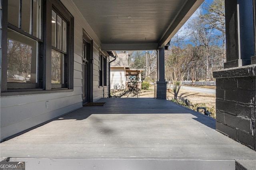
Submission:
POLYGON ((158 43, 103 43, 102 51, 141 51, 156 50, 158 43))

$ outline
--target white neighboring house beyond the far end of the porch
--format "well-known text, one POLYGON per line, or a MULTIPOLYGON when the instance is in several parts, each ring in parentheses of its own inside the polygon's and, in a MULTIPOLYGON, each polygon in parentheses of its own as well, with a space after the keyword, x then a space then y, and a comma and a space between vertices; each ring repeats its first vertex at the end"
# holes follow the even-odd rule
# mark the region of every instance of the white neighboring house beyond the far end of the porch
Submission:
POLYGON ((128 53, 117 53, 115 60, 110 61, 110 89, 128 87, 136 79, 141 87, 141 73, 144 69, 130 69, 128 53))

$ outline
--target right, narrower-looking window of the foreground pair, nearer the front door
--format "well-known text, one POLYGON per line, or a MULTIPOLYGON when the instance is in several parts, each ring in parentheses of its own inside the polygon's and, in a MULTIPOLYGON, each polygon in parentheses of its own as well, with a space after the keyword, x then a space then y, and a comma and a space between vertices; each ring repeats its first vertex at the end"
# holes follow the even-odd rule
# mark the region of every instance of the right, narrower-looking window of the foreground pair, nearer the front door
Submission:
MULTIPOLYGON (((49 26, 47 33, 51 33, 51 43, 48 43, 51 50, 47 50, 46 60, 51 61, 51 65, 46 65, 46 89, 72 89, 73 88, 73 48, 74 48, 74 22, 72 15, 58 1, 51 0, 51 13, 46 19, 49 26), (50 45, 51 44, 51 45, 50 45)), ((48 47, 48 45, 46 45, 48 47)))

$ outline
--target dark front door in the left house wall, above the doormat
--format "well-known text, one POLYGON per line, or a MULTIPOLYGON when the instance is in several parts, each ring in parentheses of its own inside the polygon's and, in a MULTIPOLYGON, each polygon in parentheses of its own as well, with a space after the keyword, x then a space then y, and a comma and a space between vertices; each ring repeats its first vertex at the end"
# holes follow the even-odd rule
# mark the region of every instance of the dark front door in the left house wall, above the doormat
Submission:
POLYGON ((90 102, 90 43, 83 40, 83 104, 90 102))

